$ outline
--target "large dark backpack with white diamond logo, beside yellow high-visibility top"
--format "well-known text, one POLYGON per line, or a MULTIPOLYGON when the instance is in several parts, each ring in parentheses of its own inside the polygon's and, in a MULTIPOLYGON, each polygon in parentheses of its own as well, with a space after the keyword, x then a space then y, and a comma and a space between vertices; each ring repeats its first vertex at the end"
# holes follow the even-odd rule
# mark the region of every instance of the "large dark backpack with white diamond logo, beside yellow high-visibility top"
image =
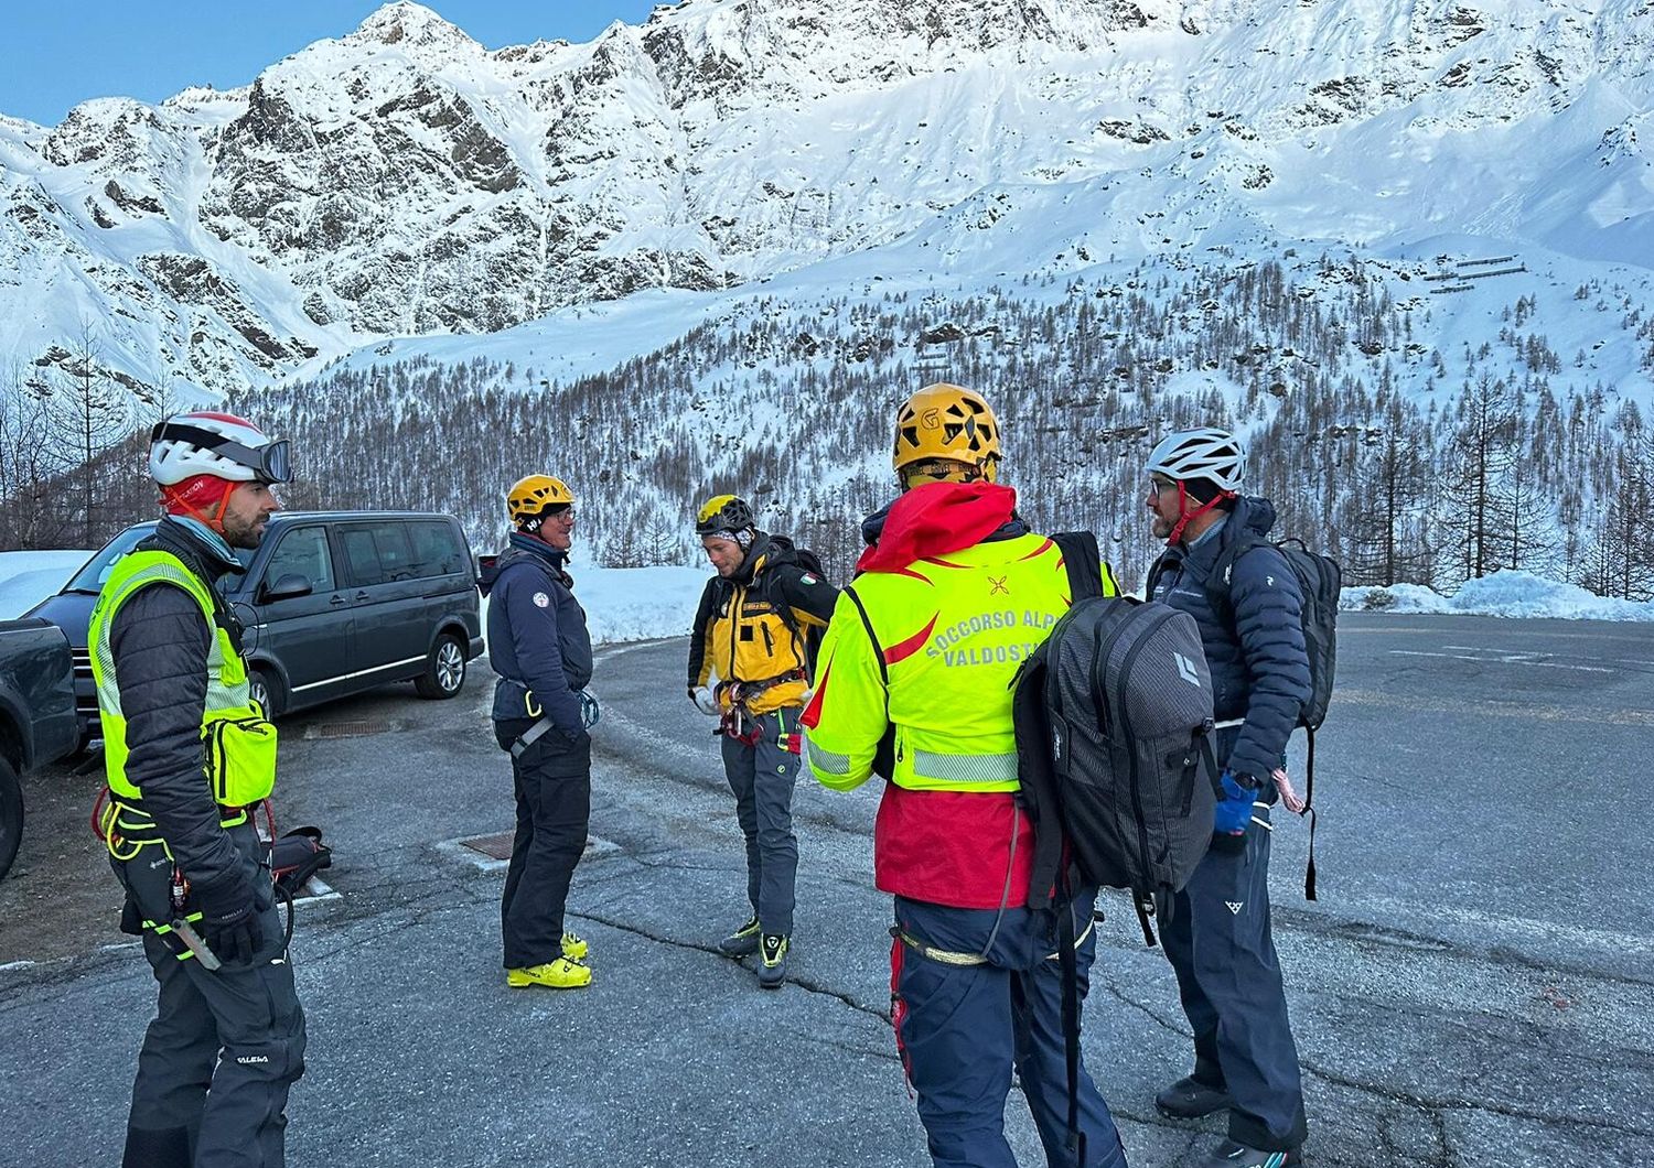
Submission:
POLYGON ((1217 767, 1201 631, 1169 605, 1102 596, 1090 534, 1052 539, 1073 605, 1017 674, 1011 710, 1034 821, 1029 905, 1049 904, 1067 844, 1083 884, 1131 889, 1145 912, 1189 882, 1212 839, 1217 767))

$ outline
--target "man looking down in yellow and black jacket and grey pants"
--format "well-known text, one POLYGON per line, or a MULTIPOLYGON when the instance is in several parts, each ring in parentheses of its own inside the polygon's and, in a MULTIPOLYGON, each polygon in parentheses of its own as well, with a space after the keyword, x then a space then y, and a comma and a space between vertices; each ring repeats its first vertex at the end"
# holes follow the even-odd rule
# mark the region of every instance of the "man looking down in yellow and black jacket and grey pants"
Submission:
POLYGON ((839 590, 822 578, 814 553, 758 530, 753 509, 733 494, 706 501, 695 534, 718 575, 706 582, 695 613, 690 700, 721 717, 724 776, 746 836, 753 909, 718 948, 729 957, 758 953, 758 983, 776 990, 787 978, 799 869, 792 834, 799 709, 812 649, 839 590))

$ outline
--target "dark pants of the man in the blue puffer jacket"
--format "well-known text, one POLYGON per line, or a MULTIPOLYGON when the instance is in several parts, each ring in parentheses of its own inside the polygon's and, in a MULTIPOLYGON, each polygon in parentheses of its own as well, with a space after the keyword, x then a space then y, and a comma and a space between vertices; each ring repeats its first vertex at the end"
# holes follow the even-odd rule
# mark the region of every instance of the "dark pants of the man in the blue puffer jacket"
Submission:
MULTIPOLYGON (((1269 819, 1262 805, 1252 813, 1269 819)), ((1303 1143, 1303 1087, 1269 930, 1269 839, 1254 823, 1245 851, 1206 852, 1159 940, 1194 1028, 1194 1077, 1234 1100, 1229 1138, 1290 1151, 1303 1143)))

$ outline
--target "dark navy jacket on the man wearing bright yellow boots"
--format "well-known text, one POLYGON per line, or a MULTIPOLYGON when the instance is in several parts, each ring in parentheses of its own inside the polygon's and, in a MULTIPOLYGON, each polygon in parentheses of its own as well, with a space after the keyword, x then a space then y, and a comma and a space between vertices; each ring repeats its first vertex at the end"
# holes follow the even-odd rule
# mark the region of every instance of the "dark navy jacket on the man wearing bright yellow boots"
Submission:
MULTIPOLYGON (((579 691, 592 679, 592 638, 586 610, 574 600, 574 580, 562 570, 566 555, 531 535, 513 532, 511 545, 483 572, 488 601, 488 661, 495 672, 534 692, 539 709, 577 742, 579 691)), ((529 717, 503 710, 495 719, 529 717)))

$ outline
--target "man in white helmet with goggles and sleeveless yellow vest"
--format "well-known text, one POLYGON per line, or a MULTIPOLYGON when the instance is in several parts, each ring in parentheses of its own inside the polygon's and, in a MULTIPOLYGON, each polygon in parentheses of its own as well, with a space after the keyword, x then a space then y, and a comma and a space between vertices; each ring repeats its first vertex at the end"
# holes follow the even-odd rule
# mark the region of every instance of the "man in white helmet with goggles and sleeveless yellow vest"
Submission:
POLYGON ((109 800, 99 819, 160 986, 137 1059, 124 1168, 283 1163, 304 1071, 270 867, 251 821, 276 780, 276 732, 248 697, 240 624, 218 578, 280 510, 288 444, 227 413, 151 434, 164 515, 116 562, 89 648, 109 800))

